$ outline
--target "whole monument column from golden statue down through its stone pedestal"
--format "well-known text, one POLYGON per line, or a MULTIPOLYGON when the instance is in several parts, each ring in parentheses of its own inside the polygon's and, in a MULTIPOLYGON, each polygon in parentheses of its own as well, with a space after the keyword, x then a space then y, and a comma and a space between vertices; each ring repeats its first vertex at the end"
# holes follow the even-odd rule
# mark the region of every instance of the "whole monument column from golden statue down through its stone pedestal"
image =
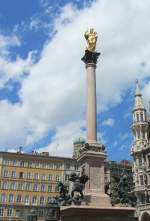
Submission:
POLYGON ((97 33, 91 28, 84 34, 87 48, 82 61, 87 75, 87 139, 80 150, 78 163, 82 173, 89 176, 85 185, 85 201, 91 206, 110 206, 110 200, 104 191, 105 147, 97 141, 96 122, 96 63, 100 53, 96 52, 97 33))

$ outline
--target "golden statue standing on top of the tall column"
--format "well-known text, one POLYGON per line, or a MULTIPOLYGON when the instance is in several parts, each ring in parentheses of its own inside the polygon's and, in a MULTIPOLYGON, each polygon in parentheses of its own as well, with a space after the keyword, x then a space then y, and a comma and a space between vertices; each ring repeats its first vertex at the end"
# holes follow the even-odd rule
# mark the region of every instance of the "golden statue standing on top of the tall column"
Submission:
POLYGON ((87 50, 91 52, 95 52, 96 42, 97 42, 97 32, 94 28, 90 28, 90 31, 86 31, 84 33, 84 37, 87 41, 87 50))

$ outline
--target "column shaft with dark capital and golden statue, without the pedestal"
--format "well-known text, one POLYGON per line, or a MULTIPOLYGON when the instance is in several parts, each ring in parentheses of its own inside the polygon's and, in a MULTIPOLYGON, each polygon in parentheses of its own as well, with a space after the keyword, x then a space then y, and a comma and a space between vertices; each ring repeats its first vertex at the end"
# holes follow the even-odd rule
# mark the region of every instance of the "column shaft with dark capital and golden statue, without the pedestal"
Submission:
POLYGON ((82 58, 87 73, 87 142, 97 142, 97 120, 96 120, 96 63, 100 53, 95 52, 97 33, 94 29, 85 32, 87 49, 82 58))

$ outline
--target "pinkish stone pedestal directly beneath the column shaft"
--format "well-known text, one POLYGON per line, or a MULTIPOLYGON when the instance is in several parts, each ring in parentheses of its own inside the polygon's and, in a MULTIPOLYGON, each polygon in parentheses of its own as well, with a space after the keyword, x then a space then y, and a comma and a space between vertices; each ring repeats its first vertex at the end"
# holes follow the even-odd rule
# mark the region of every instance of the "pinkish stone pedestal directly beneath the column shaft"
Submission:
MULTIPOLYGON (((100 144, 95 144, 94 148, 97 147, 97 150, 99 150, 99 146, 100 144)), ((89 177, 84 190, 85 205, 110 207, 110 198, 104 191, 104 160, 106 159, 106 155, 102 151, 96 152, 91 149, 92 147, 90 146, 89 150, 83 151, 78 158, 81 171, 84 171, 89 177)))

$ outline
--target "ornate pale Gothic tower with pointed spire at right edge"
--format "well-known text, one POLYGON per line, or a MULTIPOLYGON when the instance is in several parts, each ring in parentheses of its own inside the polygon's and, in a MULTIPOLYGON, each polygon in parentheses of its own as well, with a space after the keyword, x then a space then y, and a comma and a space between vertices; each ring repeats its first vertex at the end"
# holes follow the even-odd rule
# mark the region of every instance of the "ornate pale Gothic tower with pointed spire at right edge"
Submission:
POLYGON ((134 191, 137 197, 137 211, 141 221, 150 220, 150 118, 143 104, 139 83, 136 82, 133 107, 132 131, 134 191))

